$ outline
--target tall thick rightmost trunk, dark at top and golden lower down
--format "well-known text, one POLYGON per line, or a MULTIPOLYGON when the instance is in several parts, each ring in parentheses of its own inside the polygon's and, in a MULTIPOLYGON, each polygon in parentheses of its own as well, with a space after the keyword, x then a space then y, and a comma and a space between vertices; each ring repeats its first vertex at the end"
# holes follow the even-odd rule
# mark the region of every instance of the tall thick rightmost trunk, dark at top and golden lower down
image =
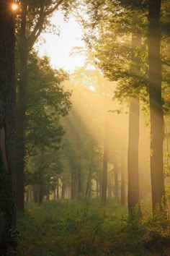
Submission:
POLYGON ((151 189, 153 210, 161 207, 164 189, 164 114, 161 101, 161 0, 149 0, 148 12, 148 61, 149 61, 149 99, 151 114, 151 189))

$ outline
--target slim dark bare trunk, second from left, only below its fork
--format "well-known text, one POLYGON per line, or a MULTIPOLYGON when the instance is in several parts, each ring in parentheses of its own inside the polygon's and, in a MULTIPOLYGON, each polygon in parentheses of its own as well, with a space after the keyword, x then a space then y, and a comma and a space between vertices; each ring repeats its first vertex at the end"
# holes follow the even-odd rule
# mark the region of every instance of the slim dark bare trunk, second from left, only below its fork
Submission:
POLYGON ((20 78, 17 95, 17 213, 24 213, 25 113, 27 103, 27 51, 20 51, 20 78))

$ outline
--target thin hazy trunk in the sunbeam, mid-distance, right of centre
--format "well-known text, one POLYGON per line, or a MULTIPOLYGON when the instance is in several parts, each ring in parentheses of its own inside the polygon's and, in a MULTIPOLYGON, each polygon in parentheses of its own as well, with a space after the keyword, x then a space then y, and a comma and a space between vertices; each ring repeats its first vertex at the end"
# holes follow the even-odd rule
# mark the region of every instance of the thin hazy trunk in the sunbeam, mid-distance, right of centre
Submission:
POLYGON ((106 205, 107 203, 107 154, 108 154, 107 125, 108 123, 107 123, 107 116, 106 116, 105 127, 104 127, 104 155, 103 155, 102 197, 101 197, 102 205, 106 205))

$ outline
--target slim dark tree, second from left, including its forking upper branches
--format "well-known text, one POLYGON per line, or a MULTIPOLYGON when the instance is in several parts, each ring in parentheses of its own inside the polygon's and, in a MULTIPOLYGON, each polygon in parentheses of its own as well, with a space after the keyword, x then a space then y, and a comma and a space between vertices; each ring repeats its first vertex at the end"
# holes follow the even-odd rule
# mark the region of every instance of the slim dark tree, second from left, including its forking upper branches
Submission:
POLYGON ((17 210, 24 213, 24 154, 27 108, 27 63, 29 52, 35 41, 49 24, 49 17, 58 7, 67 1, 19 1, 21 15, 17 26, 17 46, 19 48, 19 85, 17 95, 17 210))

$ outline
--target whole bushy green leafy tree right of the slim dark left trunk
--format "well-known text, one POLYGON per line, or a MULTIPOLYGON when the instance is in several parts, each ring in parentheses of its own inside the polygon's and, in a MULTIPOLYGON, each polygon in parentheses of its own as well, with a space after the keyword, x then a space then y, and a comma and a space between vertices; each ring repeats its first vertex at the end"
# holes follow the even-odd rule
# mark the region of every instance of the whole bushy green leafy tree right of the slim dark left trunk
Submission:
POLYGON ((57 186, 63 167, 58 150, 65 131, 61 116, 71 108, 71 93, 63 87, 68 74, 50 67, 47 57, 32 52, 28 61, 27 127, 25 129, 25 184, 34 187, 35 201, 42 202, 57 186))

